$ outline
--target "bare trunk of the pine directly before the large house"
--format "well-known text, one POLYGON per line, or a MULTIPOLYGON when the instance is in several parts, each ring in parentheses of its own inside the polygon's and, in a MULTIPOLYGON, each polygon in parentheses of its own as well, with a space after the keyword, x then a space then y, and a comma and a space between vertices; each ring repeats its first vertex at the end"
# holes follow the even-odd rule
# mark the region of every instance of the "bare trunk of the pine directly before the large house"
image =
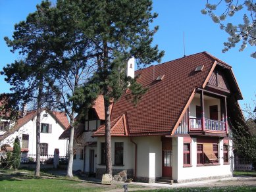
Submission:
POLYGON ((111 159, 111 121, 110 121, 110 103, 104 98, 105 104, 105 143, 106 143, 106 173, 112 175, 111 159))

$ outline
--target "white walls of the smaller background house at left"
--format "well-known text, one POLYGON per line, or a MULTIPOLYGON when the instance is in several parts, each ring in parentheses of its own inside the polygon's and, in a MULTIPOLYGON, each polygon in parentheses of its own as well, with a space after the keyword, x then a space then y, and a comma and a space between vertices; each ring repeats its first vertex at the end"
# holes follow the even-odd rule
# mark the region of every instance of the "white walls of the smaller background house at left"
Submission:
MULTIPOLYGON (((61 133, 64 129, 57 123, 57 121, 50 115, 47 114, 47 117, 43 117, 45 111, 41 112, 41 123, 51 124, 52 133, 40 133, 40 143, 48 144, 48 155, 54 154, 54 149, 59 149, 60 156, 66 155, 66 139, 59 139, 61 133)), ((1 141, 0 145, 9 144, 13 147, 13 142, 16 136, 20 139, 20 145, 22 146, 22 134, 29 135, 28 142, 28 154, 36 155, 36 117, 22 126, 18 132, 14 132, 1 141)))

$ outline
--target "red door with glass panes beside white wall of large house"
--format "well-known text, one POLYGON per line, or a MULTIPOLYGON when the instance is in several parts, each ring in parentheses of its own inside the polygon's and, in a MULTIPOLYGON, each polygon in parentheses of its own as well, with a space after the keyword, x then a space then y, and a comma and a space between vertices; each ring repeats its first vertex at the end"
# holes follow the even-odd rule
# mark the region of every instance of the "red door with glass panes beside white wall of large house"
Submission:
POLYGON ((162 176, 172 177, 172 139, 162 139, 162 176))

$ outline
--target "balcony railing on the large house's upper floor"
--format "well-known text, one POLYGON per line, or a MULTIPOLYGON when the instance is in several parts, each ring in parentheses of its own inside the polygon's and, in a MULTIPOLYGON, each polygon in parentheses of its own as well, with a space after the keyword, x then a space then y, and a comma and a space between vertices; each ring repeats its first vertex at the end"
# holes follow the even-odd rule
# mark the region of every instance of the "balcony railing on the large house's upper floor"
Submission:
POLYGON ((190 131, 220 131, 226 132, 226 122, 205 118, 190 118, 190 131))

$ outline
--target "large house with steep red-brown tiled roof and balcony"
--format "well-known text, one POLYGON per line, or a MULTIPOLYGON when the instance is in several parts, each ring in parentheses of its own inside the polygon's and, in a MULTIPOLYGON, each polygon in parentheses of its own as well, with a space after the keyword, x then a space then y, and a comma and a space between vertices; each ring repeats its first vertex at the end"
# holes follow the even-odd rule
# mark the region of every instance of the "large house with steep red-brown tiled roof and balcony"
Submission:
MULTIPOLYGON (((127 100, 127 90, 111 106, 113 175, 127 170, 129 178, 145 182, 232 176, 230 134, 242 117, 238 105, 242 93, 231 66, 203 52, 138 70, 135 75, 148 87, 147 93, 134 106, 127 100)), ((84 158, 74 160, 73 168, 94 170, 101 178, 106 170, 102 96, 90 113, 81 126, 84 131, 78 133, 85 135, 84 158)))

